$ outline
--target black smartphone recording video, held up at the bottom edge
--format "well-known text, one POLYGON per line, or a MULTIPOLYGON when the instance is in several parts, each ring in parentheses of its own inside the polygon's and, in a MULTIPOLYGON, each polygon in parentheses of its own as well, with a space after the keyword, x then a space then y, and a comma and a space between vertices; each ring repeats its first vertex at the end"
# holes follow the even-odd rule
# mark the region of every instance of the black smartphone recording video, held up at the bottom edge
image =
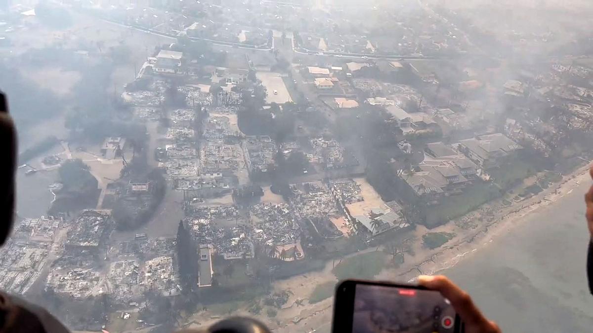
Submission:
POLYGON ((345 280, 336 287, 333 333, 458 333, 461 320, 439 292, 412 284, 345 280))

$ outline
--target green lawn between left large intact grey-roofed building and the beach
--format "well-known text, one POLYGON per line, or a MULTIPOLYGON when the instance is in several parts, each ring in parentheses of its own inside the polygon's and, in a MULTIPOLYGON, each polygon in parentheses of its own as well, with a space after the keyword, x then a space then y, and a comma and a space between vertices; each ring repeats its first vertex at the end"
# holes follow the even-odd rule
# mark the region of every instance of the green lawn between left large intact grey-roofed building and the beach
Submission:
POLYGON ((426 212, 426 226, 441 225, 477 209, 477 207, 500 196, 498 187, 492 184, 473 184, 466 187, 459 196, 445 197, 437 206, 426 212))

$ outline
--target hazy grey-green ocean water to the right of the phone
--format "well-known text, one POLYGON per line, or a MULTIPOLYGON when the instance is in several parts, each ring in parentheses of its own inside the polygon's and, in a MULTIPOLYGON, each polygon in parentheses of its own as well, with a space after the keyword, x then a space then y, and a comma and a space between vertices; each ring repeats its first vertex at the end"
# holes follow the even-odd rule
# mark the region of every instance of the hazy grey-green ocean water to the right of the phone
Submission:
POLYGON ((466 289, 503 332, 593 332, 583 202, 589 185, 523 217, 441 273, 466 289))

